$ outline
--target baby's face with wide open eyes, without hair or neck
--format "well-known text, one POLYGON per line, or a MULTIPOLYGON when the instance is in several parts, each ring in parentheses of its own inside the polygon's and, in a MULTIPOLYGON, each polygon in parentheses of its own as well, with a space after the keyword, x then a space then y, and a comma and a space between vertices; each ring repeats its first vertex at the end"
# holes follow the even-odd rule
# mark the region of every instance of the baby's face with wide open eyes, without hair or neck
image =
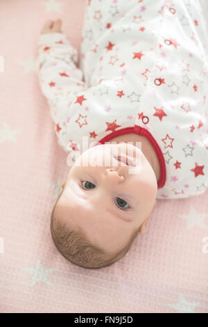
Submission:
POLYGON ((112 254, 126 246, 132 231, 148 218, 156 196, 155 173, 138 147, 96 145, 69 170, 54 214, 69 228, 82 228, 90 241, 112 254), (125 159, 129 153, 129 164, 135 160, 136 166, 120 161, 119 155, 125 159))

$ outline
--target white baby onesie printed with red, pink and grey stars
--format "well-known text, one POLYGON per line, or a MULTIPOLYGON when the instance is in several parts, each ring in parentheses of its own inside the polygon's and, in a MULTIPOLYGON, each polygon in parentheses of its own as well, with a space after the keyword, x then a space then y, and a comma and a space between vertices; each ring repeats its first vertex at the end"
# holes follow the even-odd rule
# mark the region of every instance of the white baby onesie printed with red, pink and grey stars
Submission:
POLYGON ((157 198, 204 193, 207 18, 206 0, 88 0, 80 68, 66 35, 40 35, 40 87, 64 150, 137 133, 159 159, 157 198))

